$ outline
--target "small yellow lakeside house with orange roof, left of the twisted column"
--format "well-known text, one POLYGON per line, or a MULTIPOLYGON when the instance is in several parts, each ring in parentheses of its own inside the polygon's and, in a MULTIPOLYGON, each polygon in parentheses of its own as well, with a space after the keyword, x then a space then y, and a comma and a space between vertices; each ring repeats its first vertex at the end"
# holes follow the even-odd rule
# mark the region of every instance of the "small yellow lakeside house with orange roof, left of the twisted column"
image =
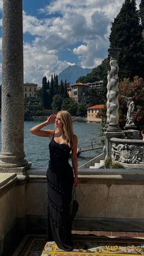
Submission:
POLYGON ((104 104, 99 104, 87 108, 87 121, 88 122, 101 122, 101 118, 98 117, 100 109, 104 108, 104 104))

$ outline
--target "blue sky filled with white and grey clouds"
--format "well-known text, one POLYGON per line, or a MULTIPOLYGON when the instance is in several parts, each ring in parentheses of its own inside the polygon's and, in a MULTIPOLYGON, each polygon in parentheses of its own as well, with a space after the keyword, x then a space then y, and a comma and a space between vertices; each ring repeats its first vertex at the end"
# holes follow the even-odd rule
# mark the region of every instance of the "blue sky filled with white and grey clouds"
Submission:
MULTIPOLYGON (((95 68, 107 57, 110 26, 123 0, 23 0, 24 82, 69 65, 95 68)), ((139 7, 140 0, 137 0, 139 7)), ((0 81, 2 0, 0 0, 0 81)))

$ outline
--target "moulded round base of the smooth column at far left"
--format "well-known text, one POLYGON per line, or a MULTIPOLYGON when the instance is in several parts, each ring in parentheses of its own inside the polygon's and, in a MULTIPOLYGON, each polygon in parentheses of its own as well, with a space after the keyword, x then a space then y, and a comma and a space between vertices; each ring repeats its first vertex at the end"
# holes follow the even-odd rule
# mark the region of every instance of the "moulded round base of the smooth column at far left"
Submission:
POLYGON ((30 169, 31 166, 32 166, 32 163, 27 163, 25 166, 21 166, 21 167, 13 167, 13 166, 10 166, 10 163, 9 164, 5 164, 3 163, 2 161, 0 161, 0 173, 1 172, 13 172, 13 173, 16 173, 16 174, 25 174, 26 170, 30 169), (2 165, 2 166, 1 166, 2 165))

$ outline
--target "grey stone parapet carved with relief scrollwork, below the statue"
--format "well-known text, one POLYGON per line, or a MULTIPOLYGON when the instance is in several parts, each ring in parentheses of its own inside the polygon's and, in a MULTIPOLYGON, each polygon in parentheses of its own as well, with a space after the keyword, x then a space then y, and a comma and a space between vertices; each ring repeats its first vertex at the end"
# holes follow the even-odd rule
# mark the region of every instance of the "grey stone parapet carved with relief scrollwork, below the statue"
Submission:
POLYGON ((140 139, 110 139, 113 160, 126 164, 144 164, 144 141, 140 139))

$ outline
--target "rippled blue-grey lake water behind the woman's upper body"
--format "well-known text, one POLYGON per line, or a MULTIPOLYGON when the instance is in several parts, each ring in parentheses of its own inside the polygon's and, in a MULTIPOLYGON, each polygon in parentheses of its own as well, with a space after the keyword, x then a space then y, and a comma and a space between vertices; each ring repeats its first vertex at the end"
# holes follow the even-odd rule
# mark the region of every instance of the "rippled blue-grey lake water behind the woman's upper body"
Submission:
MULTIPOLYGON (((40 122, 24 122, 24 152, 26 153, 27 161, 32 163, 32 167, 48 167, 49 161, 49 138, 38 137, 29 133, 32 126, 40 122)), ((0 122, 1 128, 1 122, 0 122)), ((101 137, 99 136, 101 125, 98 123, 83 123, 73 122, 74 133, 78 137, 78 147, 98 147, 101 146, 101 137)), ((49 129, 54 129, 54 125, 49 125, 49 129)), ((1 146, 1 141, 0 141, 1 146)), ((90 150, 88 152, 81 152, 78 158, 78 165, 86 163, 90 159, 99 155, 102 150, 90 150)))

